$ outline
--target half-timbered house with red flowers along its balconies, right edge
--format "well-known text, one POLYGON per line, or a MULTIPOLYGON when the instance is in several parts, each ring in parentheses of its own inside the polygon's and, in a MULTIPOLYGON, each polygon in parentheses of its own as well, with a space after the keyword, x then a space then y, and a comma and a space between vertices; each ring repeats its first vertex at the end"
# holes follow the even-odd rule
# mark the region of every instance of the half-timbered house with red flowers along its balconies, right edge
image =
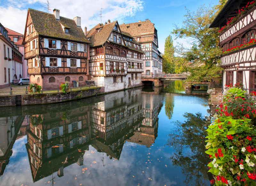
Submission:
MULTIPOLYGON (((223 85, 256 90, 256 3, 228 0, 210 25, 219 27, 223 85)), ((224 86, 225 88, 225 86, 224 86)))

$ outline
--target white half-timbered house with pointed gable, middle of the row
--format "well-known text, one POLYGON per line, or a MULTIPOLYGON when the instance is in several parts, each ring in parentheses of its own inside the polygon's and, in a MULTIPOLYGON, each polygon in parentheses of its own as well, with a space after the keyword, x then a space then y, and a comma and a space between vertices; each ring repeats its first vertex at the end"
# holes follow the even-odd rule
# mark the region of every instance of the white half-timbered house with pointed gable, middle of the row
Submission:
POLYGON ((103 81, 105 92, 140 86, 143 52, 140 44, 117 21, 94 26, 87 34, 92 80, 103 81))

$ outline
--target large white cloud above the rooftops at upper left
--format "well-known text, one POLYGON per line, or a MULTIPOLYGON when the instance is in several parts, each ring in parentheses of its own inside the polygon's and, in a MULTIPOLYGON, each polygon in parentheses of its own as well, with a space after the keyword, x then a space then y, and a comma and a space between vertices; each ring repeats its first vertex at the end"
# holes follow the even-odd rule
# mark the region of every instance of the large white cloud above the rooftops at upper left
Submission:
MULTIPOLYGON (((8 0, 0 3, 1 24, 14 31, 24 33, 28 8, 45 11, 46 0, 8 0), (44 7, 43 7, 44 6, 44 7)), ((88 30, 100 23, 100 8, 102 10, 102 23, 110 19, 122 22, 125 17, 134 16, 142 11, 144 3, 141 0, 49 0, 50 9, 59 9, 60 16, 73 19, 81 17, 82 28, 88 30)), ((49 10, 52 13, 52 10, 49 10)))

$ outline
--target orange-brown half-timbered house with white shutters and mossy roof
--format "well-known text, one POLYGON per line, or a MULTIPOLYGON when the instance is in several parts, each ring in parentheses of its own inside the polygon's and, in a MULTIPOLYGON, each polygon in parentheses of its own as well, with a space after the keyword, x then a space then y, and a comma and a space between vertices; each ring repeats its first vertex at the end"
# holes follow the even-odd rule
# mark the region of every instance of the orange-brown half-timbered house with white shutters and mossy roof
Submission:
POLYGON ((89 41, 81 28, 81 18, 68 19, 28 9, 23 38, 25 59, 28 60, 30 82, 44 87, 62 82, 88 80, 89 41))

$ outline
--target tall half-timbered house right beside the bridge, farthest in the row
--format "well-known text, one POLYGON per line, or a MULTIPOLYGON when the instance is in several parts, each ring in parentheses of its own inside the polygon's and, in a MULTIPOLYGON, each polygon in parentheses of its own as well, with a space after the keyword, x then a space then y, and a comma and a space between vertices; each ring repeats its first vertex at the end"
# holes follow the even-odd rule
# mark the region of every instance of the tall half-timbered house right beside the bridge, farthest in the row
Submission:
POLYGON ((145 53, 143 57, 144 72, 143 74, 162 73, 163 63, 159 61, 158 55, 158 37, 155 24, 150 20, 139 21, 135 23, 120 25, 122 32, 128 32, 131 36, 141 44, 142 51, 145 53))

